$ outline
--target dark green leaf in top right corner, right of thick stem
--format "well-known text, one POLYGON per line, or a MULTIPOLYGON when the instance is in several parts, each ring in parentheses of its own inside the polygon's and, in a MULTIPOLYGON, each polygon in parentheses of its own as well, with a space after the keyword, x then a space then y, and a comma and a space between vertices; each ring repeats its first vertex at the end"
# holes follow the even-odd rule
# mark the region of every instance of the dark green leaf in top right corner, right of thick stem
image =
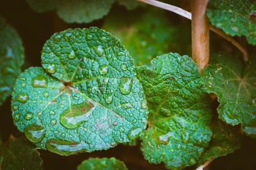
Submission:
POLYGON ((245 36, 256 45, 256 1, 211 0, 207 15, 211 24, 231 36, 245 36))

